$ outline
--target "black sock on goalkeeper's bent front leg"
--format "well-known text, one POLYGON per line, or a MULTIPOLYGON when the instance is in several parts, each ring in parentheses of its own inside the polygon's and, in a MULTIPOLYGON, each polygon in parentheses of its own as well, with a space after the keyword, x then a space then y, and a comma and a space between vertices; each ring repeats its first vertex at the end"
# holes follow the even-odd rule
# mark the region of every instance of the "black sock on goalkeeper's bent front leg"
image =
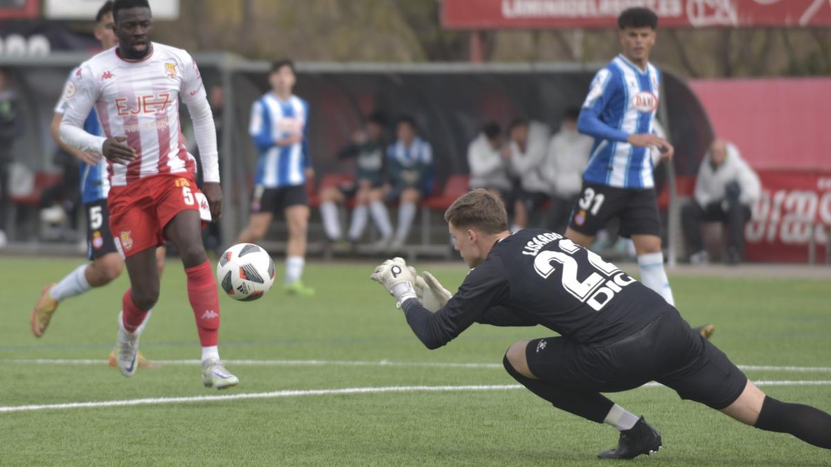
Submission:
POLYGON ((584 419, 603 423, 609 410, 612 410, 612 406, 615 405, 614 402, 609 401, 599 392, 571 391, 553 386, 551 383, 543 380, 534 380, 522 376, 519 374, 519 371, 514 370, 514 366, 508 361, 507 355, 502 360, 502 364, 505 370, 508 371, 508 374, 513 376, 514 380, 519 381, 520 384, 527 387, 529 391, 551 402, 558 409, 582 416, 584 419))

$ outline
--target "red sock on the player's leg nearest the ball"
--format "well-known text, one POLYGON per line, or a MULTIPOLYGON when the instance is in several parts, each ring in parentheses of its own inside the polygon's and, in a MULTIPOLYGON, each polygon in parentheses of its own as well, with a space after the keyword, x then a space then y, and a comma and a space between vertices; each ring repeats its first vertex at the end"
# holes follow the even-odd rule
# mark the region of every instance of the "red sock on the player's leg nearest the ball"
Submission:
POLYGON ((206 259, 204 263, 187 268, 188 298, 194 309, 199 342, 202 347, 215 346, 219 342, 219 294, 216 292, 214 269, 206 259))

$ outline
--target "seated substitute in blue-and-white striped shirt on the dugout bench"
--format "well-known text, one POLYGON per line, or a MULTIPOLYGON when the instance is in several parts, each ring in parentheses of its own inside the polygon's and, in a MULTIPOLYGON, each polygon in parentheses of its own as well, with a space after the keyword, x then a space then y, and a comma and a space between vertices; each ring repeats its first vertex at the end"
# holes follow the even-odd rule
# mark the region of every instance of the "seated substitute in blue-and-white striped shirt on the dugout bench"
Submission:
POLYGON ((398 226, 389 248, 400 250, 410 235, 420 199, 430 195, 433 147, 418 135, 416 120, 403 116, 396 124, 396 142, 386 150, 392 188, 387 199, 398 200, 398 226))

